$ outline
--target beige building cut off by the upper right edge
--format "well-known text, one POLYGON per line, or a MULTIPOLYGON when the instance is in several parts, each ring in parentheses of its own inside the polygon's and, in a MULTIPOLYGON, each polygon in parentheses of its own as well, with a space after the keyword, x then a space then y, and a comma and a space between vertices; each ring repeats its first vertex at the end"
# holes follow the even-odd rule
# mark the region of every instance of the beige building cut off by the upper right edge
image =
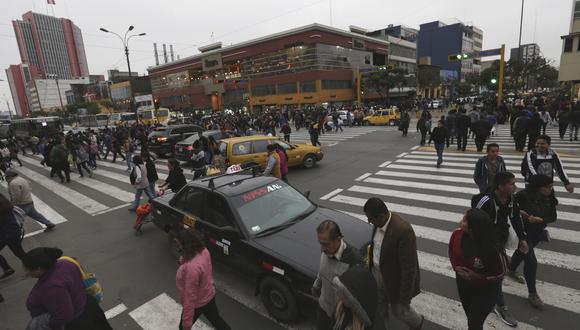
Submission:
POLYGON ((572 98, 580 100, 580 0, 572 1, 570 32, 562 36, 562 56, 558 80, 572 87, 572 98))

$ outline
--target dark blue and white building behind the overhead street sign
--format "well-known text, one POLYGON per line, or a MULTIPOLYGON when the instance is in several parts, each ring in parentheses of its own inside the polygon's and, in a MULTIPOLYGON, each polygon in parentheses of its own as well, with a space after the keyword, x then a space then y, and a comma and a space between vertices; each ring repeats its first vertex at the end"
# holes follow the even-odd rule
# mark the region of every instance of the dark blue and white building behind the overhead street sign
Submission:
POLYGON ((481 59, 477 56, 450 62, 449 55, 478 54, 482 47, 483 31, 475 26, 434 21, 419 29, 418 58, 430 58, 432 65, 441 67, 444 78, 463 79, 466 74, 479 73, 481 59))

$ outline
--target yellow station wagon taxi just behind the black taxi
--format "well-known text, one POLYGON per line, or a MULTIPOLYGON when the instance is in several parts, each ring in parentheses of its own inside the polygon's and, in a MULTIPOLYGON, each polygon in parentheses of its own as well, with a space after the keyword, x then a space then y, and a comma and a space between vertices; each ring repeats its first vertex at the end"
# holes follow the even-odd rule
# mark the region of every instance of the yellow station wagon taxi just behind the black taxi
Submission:
POLYGON ((309 144, 290 144, 277 136, 252 135, 220 140, 219 149, 226 158, 227 165, 258 164, 265 168, 269 144, 279 144, 288 154, 288 166, 312 168, 322 160, 320 147, 309 144))

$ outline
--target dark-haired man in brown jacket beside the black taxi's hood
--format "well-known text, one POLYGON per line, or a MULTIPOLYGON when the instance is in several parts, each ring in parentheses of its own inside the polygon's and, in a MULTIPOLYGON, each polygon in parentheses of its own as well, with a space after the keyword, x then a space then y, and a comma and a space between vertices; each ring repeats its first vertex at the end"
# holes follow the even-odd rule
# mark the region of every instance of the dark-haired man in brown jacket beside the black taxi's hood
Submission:
POLYGON ((391 313, 409 329, 421 329, 424 317, 411 307, 411 299, 419 294, 419 261, 413 227, 401 216, 390 212, 379 198, 372 197, 364 212, 373 225, 369 246, 369 269, 379 288, 379 310, 385 328, 388 306, 391 313))

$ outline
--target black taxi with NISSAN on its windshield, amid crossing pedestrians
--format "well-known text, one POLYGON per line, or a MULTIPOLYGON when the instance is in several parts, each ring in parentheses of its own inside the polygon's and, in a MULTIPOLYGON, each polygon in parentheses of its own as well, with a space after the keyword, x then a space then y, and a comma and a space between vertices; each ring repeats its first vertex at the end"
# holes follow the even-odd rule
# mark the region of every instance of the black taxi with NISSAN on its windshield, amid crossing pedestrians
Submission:
POLYGON ((192 181, 154 199, 153 214, 172 242, 179 230, 202 232, 212 257, 252 278, 270 315, 285 323, 316 310, 310 292, 322 221, 338 223, 345 240, 361 252, 371 238, 366 222, 318 206, 274 177, 243 173, 192 181))

